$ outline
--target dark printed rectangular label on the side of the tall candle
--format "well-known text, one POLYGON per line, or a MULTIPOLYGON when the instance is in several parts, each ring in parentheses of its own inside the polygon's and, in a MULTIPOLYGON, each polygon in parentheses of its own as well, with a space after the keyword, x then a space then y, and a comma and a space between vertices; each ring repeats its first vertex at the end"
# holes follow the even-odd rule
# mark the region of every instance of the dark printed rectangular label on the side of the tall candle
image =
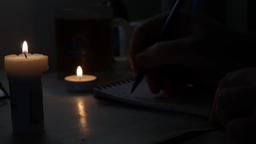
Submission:
POLYGON ((43 93, 29 93, 30 122, 31 124, 39 123, 43 120, 43 93))

